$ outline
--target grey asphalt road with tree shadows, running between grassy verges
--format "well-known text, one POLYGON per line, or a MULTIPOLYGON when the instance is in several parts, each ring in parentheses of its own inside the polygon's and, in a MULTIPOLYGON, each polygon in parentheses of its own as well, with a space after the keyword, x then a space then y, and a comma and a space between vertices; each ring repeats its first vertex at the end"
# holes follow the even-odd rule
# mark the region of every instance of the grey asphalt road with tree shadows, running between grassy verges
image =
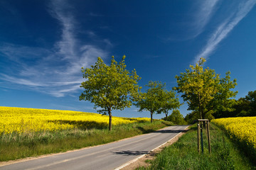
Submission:
POLYGON ((156 132, 112 142, 107 145, 53 154, 53 156, 36 158, 26 162, 17 162, 0 166, 0 169, 118 169, 123 164, 171 140, 171 138, 178 135, 186 127, 170 126, 156 132))

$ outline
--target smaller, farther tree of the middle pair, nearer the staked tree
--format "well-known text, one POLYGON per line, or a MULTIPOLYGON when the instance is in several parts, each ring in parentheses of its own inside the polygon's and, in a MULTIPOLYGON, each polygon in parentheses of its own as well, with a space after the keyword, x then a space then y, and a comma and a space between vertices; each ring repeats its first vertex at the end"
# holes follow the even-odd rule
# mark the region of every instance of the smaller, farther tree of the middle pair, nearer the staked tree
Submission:
POLYGON ((170 110, 179 108, 182 105, 182 103, 178 101, 178 97, 175 95, 174 91, 164 90, 161 101, 161 112, 166 115, 166 119, 170 110))

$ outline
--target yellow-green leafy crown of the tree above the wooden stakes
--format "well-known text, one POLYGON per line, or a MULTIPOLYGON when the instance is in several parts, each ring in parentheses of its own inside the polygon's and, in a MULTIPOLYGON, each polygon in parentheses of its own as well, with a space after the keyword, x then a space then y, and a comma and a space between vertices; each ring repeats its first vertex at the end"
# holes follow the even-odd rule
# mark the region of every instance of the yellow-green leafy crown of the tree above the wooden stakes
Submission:
POLYGON ((230 72, 221 79, 215 70, 203 69, 204 62, 206 60, 201 58, 196 66, 191 65, 186 72, 176 76, 178 86, 174 87, 187 101, 188 110, 198 111, 199 118, 203 119, 210 116, 210 112, 231 110, 235 102, 231 98, 238 93, 230 91, 237 85, 236 79, 230 81, 230 72))

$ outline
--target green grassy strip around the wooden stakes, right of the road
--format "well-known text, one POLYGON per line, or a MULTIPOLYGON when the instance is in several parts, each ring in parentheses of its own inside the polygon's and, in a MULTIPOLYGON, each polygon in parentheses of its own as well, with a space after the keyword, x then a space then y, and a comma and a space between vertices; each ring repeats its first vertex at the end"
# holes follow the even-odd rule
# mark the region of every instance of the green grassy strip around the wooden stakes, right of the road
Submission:
POLYGON ((198 154, 197 130, 193 125, 178 142, 158 154, 151 166, 139 169, 255 169, 250 159, 241 152, 240 146, 213 124, 210 125, 210 142, 211 154, 208 153, 205 132, 204 153, 198 154))

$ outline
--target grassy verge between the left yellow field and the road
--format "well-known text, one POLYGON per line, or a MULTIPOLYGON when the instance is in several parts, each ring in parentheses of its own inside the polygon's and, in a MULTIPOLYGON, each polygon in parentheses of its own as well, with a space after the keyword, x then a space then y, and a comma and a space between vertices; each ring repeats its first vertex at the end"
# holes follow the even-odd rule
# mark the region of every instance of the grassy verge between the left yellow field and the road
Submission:
POLYGON ((131 123, 114 126, 112 131, 97 130, 62 130, 56 132, 34 132, 0 136, 0 161, 35 157, 42 154, 65 152, 101 145, 135 135, 159 130, 169 122, 156 120, 154 123, 131 123))

